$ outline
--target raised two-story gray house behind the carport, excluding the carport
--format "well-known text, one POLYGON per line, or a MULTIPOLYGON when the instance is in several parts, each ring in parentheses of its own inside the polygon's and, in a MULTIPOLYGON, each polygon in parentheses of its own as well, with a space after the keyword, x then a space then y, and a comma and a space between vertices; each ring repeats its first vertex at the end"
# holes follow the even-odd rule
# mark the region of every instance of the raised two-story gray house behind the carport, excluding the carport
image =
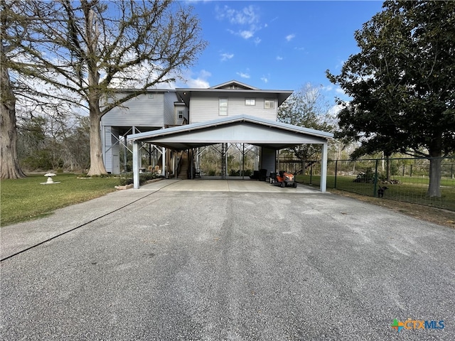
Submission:
MULTIPOLYGON (((126 144, 121 141, 128 134, 240 114, 277 121, 279 105, 291 94, 292 91, 287 90, 259 90, 234 80, 208 89, 148 90, 102 117, 102 153, 106 170, 112 174, 120 173, 120 148, 125 149, 124 153, 128 152, 126 144)), ((153 158, 151 163, 157 163, 161 156, 156 154, 162 151, 156 147, 146 149, 145 152, 153 158)), ((125 168, 126 160, 122 169, 125 168)))

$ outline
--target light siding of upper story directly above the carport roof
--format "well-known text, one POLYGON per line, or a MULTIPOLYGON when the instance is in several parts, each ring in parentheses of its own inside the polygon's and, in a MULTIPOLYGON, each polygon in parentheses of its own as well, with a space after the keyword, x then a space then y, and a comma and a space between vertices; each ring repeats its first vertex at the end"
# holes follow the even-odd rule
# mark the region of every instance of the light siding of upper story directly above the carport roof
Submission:
MULTIPOLYGON (((191 97, 190 102, 190 123, 211 121, 219 119, 218 99, 220 94, 214 94, 211 97, 191 97)), ((267 97, 268 98, 268 97, 267 97)), ((277 100, 275 99, 274 109, 264 109, 264 97, 228 97, 228 116, 236 116, 240 114, 260 117, 262 119, 277 120, 277 100), (245 98, 254 98, 256 104, 254 106, 245 105, 245 98)))

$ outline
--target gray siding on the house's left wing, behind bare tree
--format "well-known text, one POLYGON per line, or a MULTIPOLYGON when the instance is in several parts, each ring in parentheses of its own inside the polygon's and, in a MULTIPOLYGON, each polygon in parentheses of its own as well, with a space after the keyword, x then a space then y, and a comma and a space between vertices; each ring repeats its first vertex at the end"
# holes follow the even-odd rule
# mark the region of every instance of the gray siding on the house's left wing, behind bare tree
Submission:
POLYGON ((109 111, 101 123, 103 126, 161 127, 164 126, 164 112, 163 93, 141 94, 109 111))

